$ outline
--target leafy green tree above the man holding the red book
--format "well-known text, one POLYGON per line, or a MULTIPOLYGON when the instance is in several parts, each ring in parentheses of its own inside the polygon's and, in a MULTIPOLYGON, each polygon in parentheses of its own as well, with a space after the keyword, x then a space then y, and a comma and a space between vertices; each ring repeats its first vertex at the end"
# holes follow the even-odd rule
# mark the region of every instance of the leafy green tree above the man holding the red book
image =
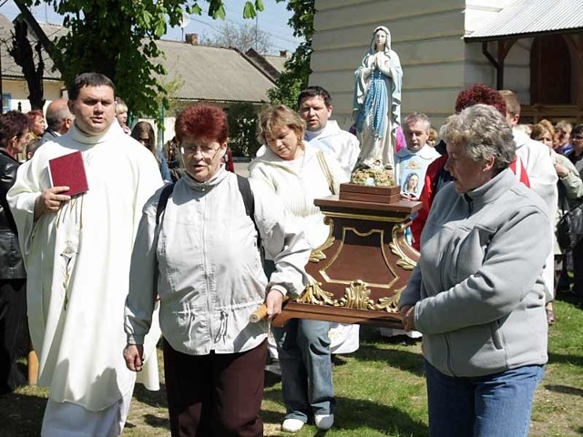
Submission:
MULTIPOLYGON (((39 5, 40 0, 17 0, 39 5)), ((155 117, 159 100, 168 105, 167 90, 157 75, 167 74, 157 59, 163 54, 156 42, 168 26, 180 24, 183 11, 225 17, 222 0, 47 0, 56 13, 64 16, 66 36, 56 38, 49 55, 61 66, 66 85, 81 72, 97 71, 110 77, 130 110, 155 117)), ((262 0, 248 1, 243 16, 252 18, 263 10, 262 0)))

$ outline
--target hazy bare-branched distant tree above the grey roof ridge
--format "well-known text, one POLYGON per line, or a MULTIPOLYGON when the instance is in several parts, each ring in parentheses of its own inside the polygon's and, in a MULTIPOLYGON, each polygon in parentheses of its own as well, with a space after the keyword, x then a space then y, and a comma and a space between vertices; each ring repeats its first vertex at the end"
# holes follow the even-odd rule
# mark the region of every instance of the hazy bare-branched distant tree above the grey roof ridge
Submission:
POLYGON ((203 38, 202 44, 207 46, 236 47, 242 53, 254 48, 259 53, 268 53, 273 45, 270 36, 256 25, 231 25, 229 23, 220 28, 217 36, 203 38))

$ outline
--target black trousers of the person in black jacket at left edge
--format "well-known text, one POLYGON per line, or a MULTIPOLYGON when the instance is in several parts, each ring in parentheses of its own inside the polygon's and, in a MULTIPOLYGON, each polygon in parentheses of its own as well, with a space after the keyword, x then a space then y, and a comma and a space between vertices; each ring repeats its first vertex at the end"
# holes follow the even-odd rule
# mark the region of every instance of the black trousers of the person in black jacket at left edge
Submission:
POLYGON ((0 394, 26 384, 16 360, 28 350, 26 279, 0 279, 0 394))

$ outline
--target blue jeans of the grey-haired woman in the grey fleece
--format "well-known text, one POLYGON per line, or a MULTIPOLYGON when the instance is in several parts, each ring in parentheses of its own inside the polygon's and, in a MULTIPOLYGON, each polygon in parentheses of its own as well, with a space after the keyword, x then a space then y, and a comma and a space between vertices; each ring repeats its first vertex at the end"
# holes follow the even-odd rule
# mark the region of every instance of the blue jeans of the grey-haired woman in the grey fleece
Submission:
POLYGON ((545 366, 475 378, 443 374, 425 361, 430 437, 523 437, 545 366))

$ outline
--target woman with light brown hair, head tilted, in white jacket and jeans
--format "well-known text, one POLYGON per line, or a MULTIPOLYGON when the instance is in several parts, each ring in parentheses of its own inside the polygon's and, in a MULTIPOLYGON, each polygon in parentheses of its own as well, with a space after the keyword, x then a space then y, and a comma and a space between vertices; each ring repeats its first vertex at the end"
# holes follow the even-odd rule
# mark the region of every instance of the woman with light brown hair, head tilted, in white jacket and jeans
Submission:
MULTIPOLYGON (((277 193, 310 247, 316 249, 327 239, 330 229, 313 200, 338 192, 342 169, 334 158, 303 141, 305 122, 289 107, 266 109, 260 117, 259 131, 267 149, 251 163, 251 179, 261 180, 277 193)), ((327 321, 298 319, 273 329, 287 409, 283 431, 299 431, 312 415, 319 429, 332 427, 329 330, 327 321)))

